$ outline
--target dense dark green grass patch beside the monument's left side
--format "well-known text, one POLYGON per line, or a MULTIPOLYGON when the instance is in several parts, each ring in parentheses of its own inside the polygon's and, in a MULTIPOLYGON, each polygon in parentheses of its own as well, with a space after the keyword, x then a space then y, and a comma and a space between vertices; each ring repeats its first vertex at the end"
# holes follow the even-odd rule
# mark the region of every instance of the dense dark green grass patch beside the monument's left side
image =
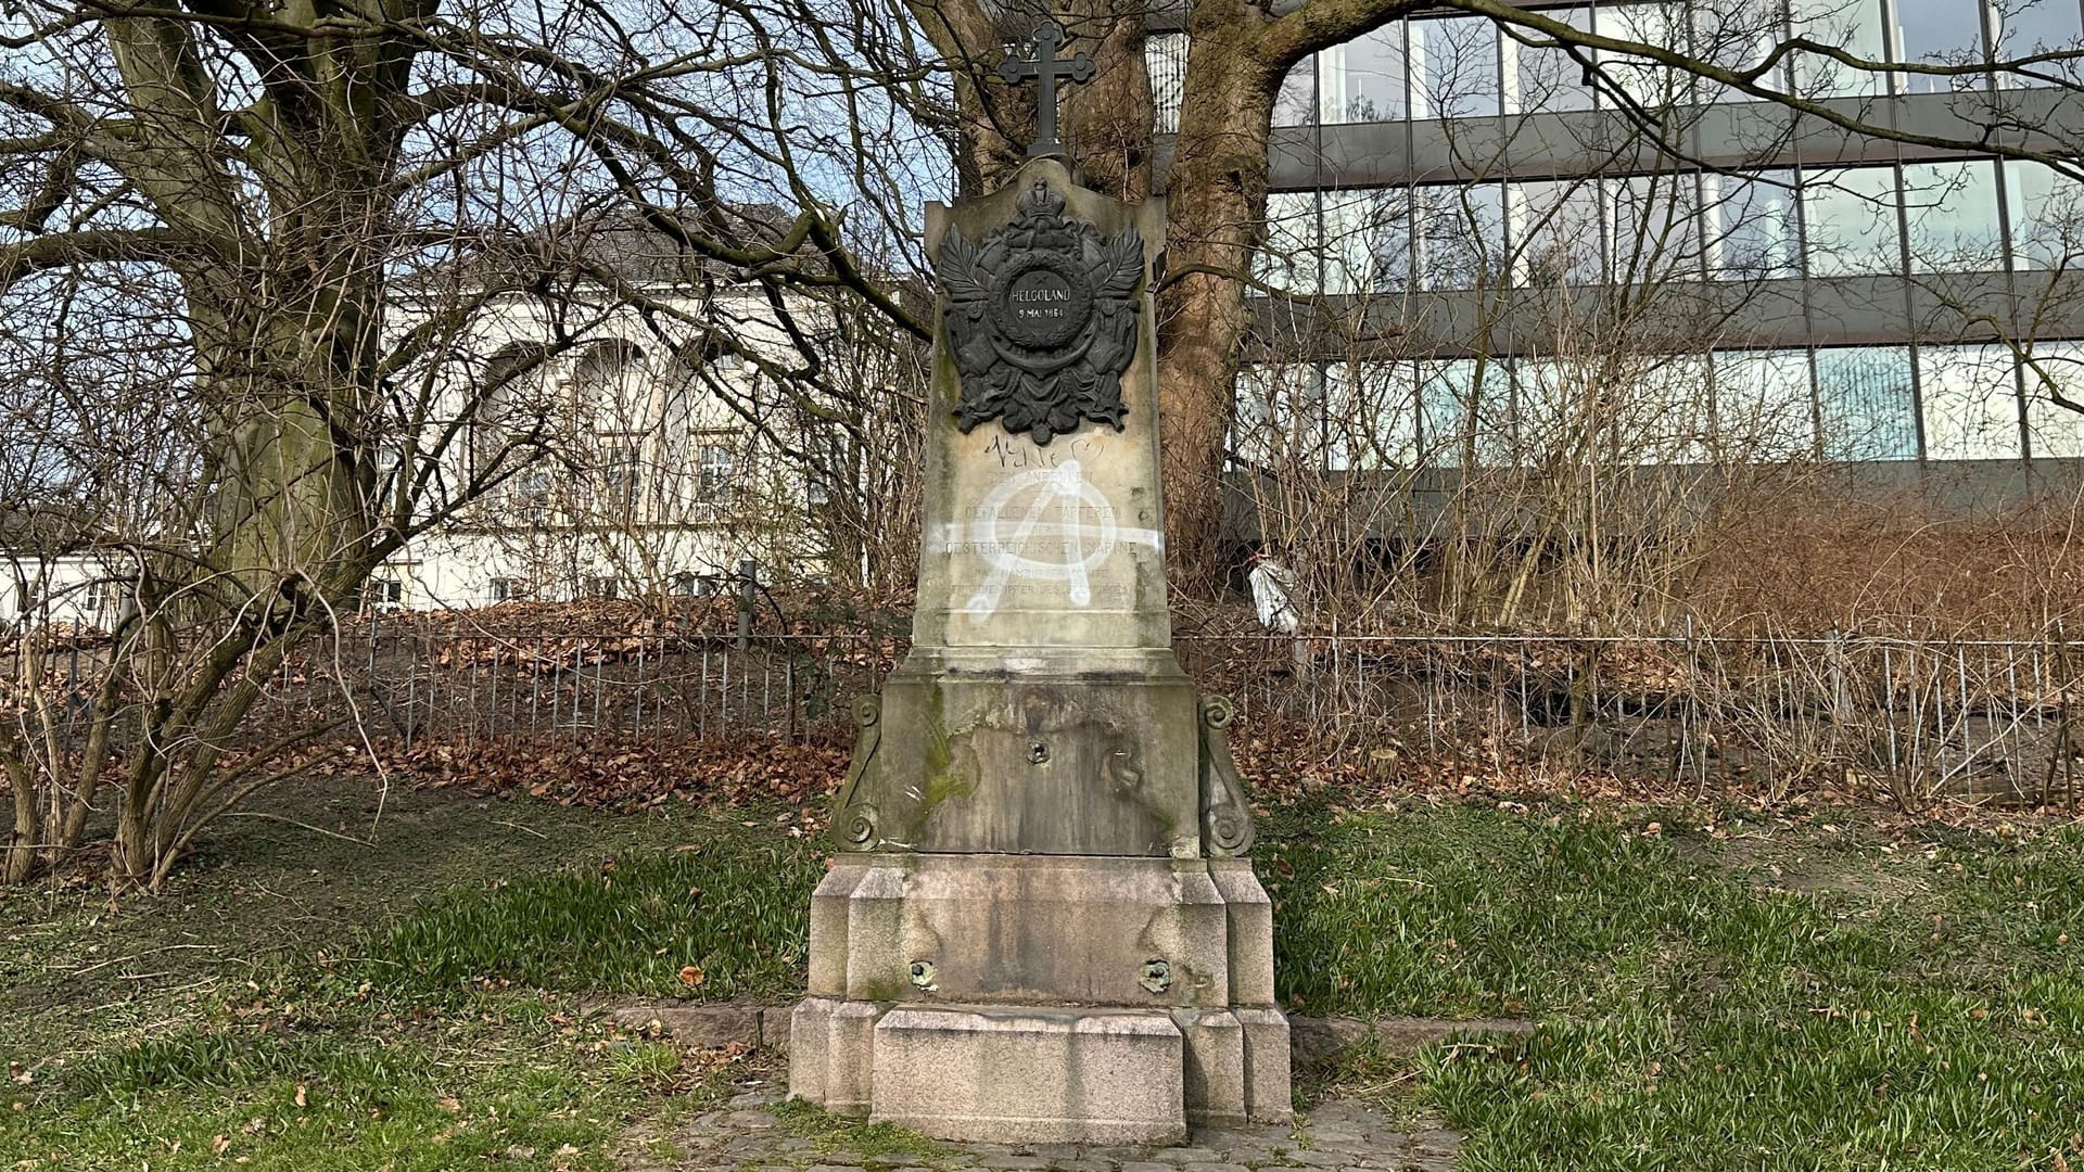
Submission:
POLYGON ((369 978, 415 997, 473 982, 790 997, 802 988, 821 874, 817 847, 769 834, 500 878, 431 899, 377 932, 369 978))

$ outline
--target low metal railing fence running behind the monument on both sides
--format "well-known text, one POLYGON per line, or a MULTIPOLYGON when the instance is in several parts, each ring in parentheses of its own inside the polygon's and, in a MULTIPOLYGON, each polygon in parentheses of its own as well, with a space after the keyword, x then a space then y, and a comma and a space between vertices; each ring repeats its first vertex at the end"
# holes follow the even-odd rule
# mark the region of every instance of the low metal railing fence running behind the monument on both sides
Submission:
MULTIPOLYGON (((1246 730, 1378 772, 1573 772, 1769 797, 2076 805, 2084 644, 1901 638, 1186 636, 1246 730)), ((875 632, 486 630, 386 615, 288 663, 258 732, 344 715, 381 740, 850 736, 846 701, 904 653, 875 632)), ((19 678, 19 659, 0 669, 19 678)), ((44 663, 56 734, 98 653, 44 663)), ((4 699, 0 699, 4 705, 4 699)))

